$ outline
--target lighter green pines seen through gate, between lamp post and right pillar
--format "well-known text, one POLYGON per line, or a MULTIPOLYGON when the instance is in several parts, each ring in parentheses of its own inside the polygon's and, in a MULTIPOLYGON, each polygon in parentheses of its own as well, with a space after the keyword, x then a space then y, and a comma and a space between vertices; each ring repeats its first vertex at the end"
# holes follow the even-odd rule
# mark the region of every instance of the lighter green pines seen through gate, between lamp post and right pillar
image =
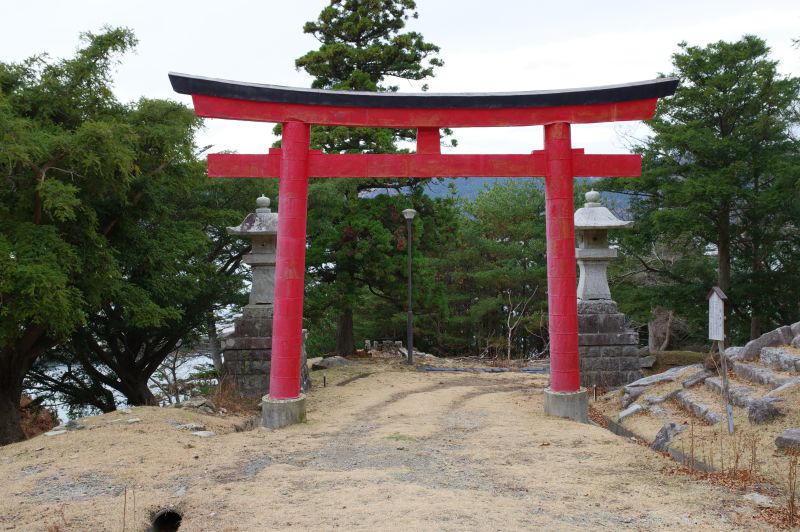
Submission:
POLYGON ((457 236, 435 261, 447 301, 436 329, 426 331, 437 350, 506 356, 510 325, 512 356, 541 353, 545 252, 544 194, 536 180, 498 182, 464 202, 457 236))

